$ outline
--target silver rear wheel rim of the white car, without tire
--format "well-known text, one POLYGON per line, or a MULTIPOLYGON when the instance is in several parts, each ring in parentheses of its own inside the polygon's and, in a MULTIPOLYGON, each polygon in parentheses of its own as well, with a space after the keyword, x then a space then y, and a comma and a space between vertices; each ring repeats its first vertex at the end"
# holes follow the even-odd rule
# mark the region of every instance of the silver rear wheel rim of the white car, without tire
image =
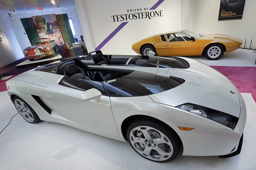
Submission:
POLYGON ((24 119, 26 119, 28 122, 34 121, 33 114, 31 113, 30 109, 23 101, 16 99, 14 101, 14 104, 15 104, 15 107, 17 108, 18 112, 24 119))

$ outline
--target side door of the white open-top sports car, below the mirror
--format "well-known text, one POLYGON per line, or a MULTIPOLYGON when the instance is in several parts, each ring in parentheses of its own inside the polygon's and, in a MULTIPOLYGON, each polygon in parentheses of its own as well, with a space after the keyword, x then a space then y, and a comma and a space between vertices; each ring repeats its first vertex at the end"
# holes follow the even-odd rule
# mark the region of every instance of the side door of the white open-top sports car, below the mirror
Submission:
POLYGON ((58 84, 44 90, 47 104, 64 122, 77 127, 119 137, 110 98, 101 82, 64 76, 58 84), (79 101, 78 96, 86 90, 96 88, 102 95, 100 101, 79 101), (50 99, 52 98, 52 99, 50 99))

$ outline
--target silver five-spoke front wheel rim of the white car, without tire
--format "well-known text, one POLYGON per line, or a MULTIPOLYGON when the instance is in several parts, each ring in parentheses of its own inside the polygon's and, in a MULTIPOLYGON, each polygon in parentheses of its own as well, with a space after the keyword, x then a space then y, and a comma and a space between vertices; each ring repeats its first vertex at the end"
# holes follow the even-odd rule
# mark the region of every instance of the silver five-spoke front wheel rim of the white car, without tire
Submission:
POLYGON ((166 135, 149 126, 138 126, 131 130, 132 147, 143 157, 164 161, 173 154, 173 146, 166 135))

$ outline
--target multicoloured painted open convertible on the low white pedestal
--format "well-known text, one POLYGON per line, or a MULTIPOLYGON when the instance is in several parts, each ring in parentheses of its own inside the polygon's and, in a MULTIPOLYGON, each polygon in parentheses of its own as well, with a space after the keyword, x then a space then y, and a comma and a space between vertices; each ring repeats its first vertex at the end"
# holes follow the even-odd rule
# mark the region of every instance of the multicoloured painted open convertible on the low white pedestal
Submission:
POLYGON ((45 56, 54 57, 56 51, 56 43, 49 38, 38 38, 32 40, 32 46, 25 48, 23 53, 26 58, 33 61, 35 58, 42 58, 45 56))

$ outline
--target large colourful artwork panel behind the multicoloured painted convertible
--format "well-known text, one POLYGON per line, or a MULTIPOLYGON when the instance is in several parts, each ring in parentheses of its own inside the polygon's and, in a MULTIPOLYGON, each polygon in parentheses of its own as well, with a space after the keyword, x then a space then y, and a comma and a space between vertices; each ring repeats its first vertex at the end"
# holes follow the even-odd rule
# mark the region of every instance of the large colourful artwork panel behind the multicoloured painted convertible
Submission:
POLYGON ((32 19, 40 38, 50 38, 57 44, 63 41, 55 14, 32 16, 32 19))

